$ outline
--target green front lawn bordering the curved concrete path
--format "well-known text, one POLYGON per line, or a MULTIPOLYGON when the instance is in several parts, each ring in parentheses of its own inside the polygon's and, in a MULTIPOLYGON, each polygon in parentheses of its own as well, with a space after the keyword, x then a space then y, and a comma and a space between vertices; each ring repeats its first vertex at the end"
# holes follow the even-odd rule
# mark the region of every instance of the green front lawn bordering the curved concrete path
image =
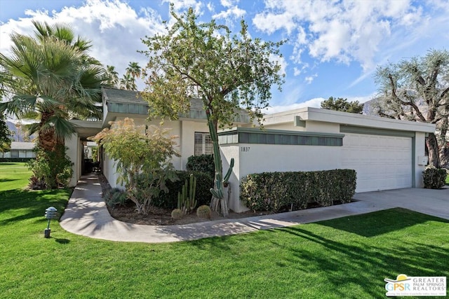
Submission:
POLYGON ((404 209, 171 244, 52 221, 44 239, 69 193, 0 191, 0 298, 384 298, 384 278, 449 277, 448 221, 404 209))

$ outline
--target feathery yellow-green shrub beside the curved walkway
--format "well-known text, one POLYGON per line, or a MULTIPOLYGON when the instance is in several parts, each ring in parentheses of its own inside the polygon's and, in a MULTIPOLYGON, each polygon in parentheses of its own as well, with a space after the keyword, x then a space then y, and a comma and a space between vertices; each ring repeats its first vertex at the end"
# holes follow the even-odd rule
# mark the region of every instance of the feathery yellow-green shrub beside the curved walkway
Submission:
POLYGON ((178 155, 175 138, 162 127, 135 125, 132 118, 112 122, 110 129, 90 137, 116 160, 117 183, 124 184, 139 214, 148 214, 152 199, 161 190, 167 191, 166 180, 176 177, 170 162, 173 155, 178 155))

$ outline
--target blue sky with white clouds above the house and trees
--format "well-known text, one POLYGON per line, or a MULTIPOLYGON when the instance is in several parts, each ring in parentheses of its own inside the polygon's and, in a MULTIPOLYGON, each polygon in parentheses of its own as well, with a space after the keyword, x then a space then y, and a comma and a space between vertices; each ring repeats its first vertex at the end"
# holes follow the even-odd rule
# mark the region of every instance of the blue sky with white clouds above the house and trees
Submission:
MULTIPOLYGON (((328 97, 365 102, 377 90, 377 65, 448 48, 449 1, 445 0, 173 0, 182 13, 193 7, 199 20, 239 31, 246 20, 251 36, 288 39, 277 58, 286 74, 269 112, 319 106, 328 97)), ((145 65, 140 39, 170 22, 169 1, 0 0, 0 51, 9 34, 32 34, 31 20, 65 22, 93 42, 91 55, 123 74, 128 62, 145 65)), ((139 82, 139 88, 144 87, 139 82)))

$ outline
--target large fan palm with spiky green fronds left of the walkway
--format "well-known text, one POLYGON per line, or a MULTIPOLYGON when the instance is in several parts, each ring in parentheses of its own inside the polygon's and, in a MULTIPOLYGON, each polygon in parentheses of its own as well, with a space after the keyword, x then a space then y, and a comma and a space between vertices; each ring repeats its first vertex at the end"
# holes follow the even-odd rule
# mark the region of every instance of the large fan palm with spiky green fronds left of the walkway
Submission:
POLYGON ((87 53, 90 42, 75 38, 69 27, 39 22, 34 27, 35 36, 11 34, 11 55, 0 53, 4 90, 11 99, 0 104, 0 112, 34 118, 29 134, 37 134, 37 146, 62 151, 65 138, 75 132, 70 119, 100 119, 95 102, 104 71, 87 53))

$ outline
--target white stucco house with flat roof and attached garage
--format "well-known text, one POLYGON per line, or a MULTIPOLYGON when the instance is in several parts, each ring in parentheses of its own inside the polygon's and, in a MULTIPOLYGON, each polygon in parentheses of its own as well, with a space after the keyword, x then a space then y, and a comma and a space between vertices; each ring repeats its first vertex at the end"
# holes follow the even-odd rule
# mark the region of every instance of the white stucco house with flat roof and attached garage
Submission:
MULTIPOLYGON (((83 144, 87 137, 100 132, 111 120, 129 117, 145 123, 148 105, 138 92, 103 88, 103 120, 74 120, 77 134, 68 139, 69 156, 74 165, 72 186, 81 176, 83 144)), ((159 120, 154 120, 159 123, 159 120)), ((206 114, 201 102, 192 102, 190 113, 176 121, 165 121, 170 134, 179 136, 180 158, 177 169, 185 169, 191 155, 211 153, 206 114)), ((356 192, 396 188, 422 188, 422 174, 427 157, 426 134, 435 125, 392 120, 326 109, 304 108, 269 114, 264 129, 253 127, 244 113, 232 129, 219 132, 223 169, 235 160, 229 208, 246 210, 239 201, 239 182, 243 176, 257 172, 355 169, 356 192)), ((116 182, 114 161, 102 154, 102 172, 112 186, 116 182)))

